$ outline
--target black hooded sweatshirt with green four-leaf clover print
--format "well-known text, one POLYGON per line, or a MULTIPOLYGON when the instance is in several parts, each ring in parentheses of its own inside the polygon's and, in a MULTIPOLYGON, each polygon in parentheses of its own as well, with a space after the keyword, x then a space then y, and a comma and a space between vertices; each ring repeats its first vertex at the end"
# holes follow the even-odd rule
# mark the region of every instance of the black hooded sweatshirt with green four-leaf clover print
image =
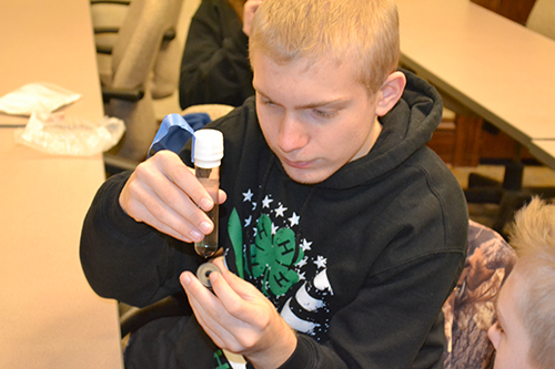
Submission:
MULTIPOLYGON (((468 218, 456 180, 425 146, 441 121, 441 98, 406 74, 370 153, 315 185, 285 174, 253 99, 211 123, 224 134, 226 266, 299 332, 282 368, 442 367, 441 308, 463 267, 468 218)), ((180 156, 190 165, 189 143, 180 156)), ((182 290, 179 275, 204 260, 123 213, 118 197, 128 177, 111 177, 97 194, 81 260, 100 296, 144 306, 182 290)), ((216 367, 219 349, 194 318, 175 346, 180 367, 216 367)))

